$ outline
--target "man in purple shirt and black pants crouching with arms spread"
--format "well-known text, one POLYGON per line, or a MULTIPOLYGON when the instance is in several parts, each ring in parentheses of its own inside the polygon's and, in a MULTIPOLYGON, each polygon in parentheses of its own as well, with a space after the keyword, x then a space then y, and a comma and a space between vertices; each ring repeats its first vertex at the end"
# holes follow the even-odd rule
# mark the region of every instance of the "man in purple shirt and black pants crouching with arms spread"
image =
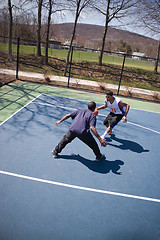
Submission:
POLYGON ((76 137, 79 138, 82 142, 89 146, 94 154, 96 155, 96 160, 103 160, 105 159, 104 154, 101 154, 98 144, 92 134, 90 133, 90 129, 93 134, 98 138, 102 146, 106 146, 107 143, 104 139, 102 139, 97 130, 96 130, 96 116, 94 115, 94 110, 96 108, 95 102, 88 103, 88 109, 79 109, 70 114, 65 115, 61 120, 57 121, 55 124, 58 125, 59 123, 63 122, 68 118, 74 119, 73 123, 69 127, 69 131, 59 144, 55 147, 52 151, 52 155, 54 158, 57 158, 65 146, 70 143, 76 137))

